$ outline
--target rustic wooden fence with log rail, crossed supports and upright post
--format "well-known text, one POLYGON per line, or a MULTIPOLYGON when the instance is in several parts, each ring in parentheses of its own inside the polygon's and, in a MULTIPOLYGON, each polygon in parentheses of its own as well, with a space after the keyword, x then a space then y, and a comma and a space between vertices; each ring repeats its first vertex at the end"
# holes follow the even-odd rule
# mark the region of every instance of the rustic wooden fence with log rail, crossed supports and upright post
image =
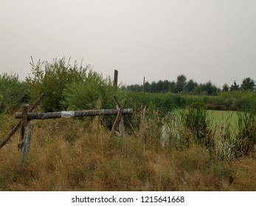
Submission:
MULTIPOLYGON (((117 75, 118 71, 114 71, 114 88, 117 89, 117 75)), ((15 127, 9 132, 7 138, 0 143, 0 148, 4 146, 7 141, 10 141, 12 135, 21 127, 21 139, 18 143, 18 149, 21 149, 21 162, 24 162, 24 159, 27 157, 27 154, 30 150, 30 142, 32 139, 32 129, 33 129, 33 119, 50 119, 50 118, 72 118, 72 117, 83 117, 83 116, 117 116, 114 121, 113 127, 109 137, 116 134, 122 136, 125 131, 125 127, 122 121, 122 115, 130 115, 133 113, 132 109, 123 109, 117 96, 114 95, 114 99, 117 102, 117 109, 103 109, 103 110, 75 110, 75 111, 62 111, 54 113, 32 113, 32 110, 37 107, 41 99, 44 98, 44 93, 38 97, 34 104, 29 107, 28 104, 22 106, 21 113, 15 113, 15 118, 20 118, 21 121, 18 122, 15 127), (117 131, 117 126, 119 126, 119 131, 117 131)), ((128 126, 131 127, 131 131, 134 133, 134 128, 131 125, 131 122, 128 120, 128 126)))

